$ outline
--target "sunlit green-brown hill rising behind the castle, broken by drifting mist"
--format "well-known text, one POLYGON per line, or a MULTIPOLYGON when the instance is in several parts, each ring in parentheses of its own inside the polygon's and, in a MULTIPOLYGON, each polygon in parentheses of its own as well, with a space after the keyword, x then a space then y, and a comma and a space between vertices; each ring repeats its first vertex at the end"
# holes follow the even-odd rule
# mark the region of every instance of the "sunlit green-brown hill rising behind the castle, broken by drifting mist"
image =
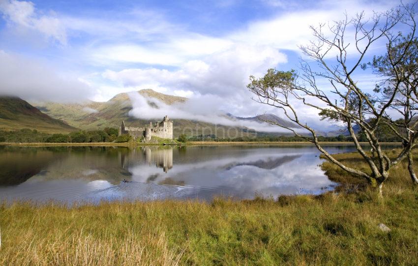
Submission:
MULTIPOLYGON (((149 99, 149 105, 158 108, 153 99, 164 102, 167 105, 187 101, 187 98, 166 95, 156 92, 152 89, 143 89, 138 91, 141 95, 149 99)), ((132 110, 131 100, 127 93, 120 93, 107 102, 88 101, 82 104, 66 103, 33 103, 39 110, 45 114, 66 121, 69 125, 85 129, 103 129, 105 127, 119 127, 124 120, 126 126, 145 126, 150 121, 130 117, 129 111, 132 110)), ((167 114, 170 116, 170 114, 167 114)), ((255 132, 247 132, 246 129, 234 128, 224 125, 214 125, 202 121, 193 121, 187 119, 173 119, 174 135, 179 136, 185 128, 189 129, 184 133, 187 135, 217 135, 223 136, 228 130, 234 137, 234 132, 239 133, 236 137, 255 136, 255 132), (236 129, 236 130, 232 130, 236 129), (202 132, 203 131, 203 132, 202 132)))

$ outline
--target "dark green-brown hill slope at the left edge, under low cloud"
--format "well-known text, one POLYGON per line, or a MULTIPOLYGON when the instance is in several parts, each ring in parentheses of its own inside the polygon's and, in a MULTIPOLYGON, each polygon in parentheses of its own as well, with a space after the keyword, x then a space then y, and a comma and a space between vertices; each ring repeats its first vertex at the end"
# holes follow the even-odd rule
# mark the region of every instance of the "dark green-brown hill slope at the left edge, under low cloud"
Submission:
POLYGON ((77 130, 63 121, 42 113, 18 97, 0 96, 0 129, 30 128, 47 133, 68 133, 77 130))

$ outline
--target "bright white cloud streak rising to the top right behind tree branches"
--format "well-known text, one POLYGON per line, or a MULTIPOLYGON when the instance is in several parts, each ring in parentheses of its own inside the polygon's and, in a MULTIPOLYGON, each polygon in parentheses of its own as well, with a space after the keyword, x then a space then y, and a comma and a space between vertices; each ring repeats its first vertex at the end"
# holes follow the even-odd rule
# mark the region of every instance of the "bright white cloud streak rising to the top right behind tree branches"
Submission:
MULTIPOLYGON (((274 5, 282 3, 280 0, 268 0, 268 2, 274 5)), ((310 5, 309 8, 300 6, 295 11, 281 13, 276 18, 250 23, 244 30, 231 34, 230 38, 300 52, 298 45, 308 44, 309 40, 313 39, 309 26, 319 26, 328 22, 332 24, 333 21, 343 20, 345 12, 349 19, 361 11, 365 11, 366 17, 369 17, 374 11, 383 12, 396 5, 393 1, 380 2, 379 5, 361 0, 350 1, 349 5, 346 3, 343 0, 322 0, 313 6, 310 5)), ((354 36, 353 29, 349 27, 347 31, 346 37, 354 36)), ((354 51, 354 43, 351 43, 350 47, 354 51)))

